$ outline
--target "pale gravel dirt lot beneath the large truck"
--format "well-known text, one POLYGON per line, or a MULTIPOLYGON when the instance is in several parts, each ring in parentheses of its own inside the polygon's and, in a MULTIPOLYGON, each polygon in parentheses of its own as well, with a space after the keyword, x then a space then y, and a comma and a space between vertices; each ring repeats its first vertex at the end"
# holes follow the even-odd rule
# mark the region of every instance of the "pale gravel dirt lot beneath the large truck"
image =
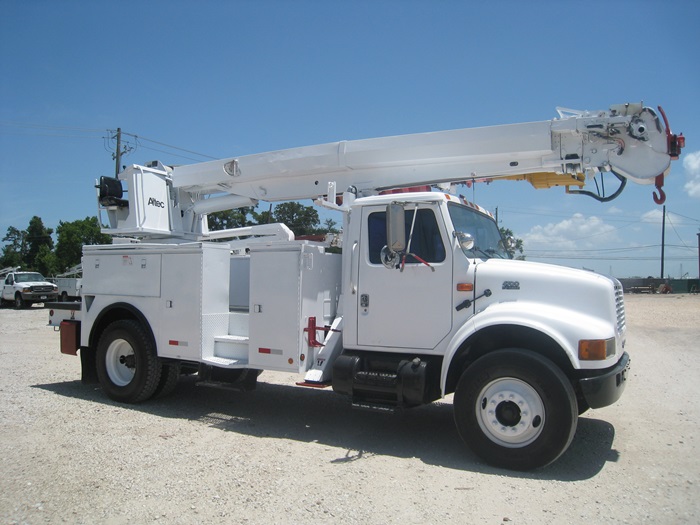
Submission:
POLYGON ((0 523, 698 523, 700 297, 628 296, 632 373, 568 452, 491 468, 449 399, 383 415, 265 373, 138 406, 80 383, 48 314, 0 310, 0 523))

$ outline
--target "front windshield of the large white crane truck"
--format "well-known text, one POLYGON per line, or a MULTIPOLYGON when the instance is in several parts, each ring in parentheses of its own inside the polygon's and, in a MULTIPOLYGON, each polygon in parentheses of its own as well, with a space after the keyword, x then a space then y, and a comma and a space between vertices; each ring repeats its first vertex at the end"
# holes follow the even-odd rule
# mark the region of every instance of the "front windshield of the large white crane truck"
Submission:
POLYGON ((470 235, 474 240, 474 245, 471 249, 463 248, 467 257, 478 257, 480 259, 489 259, 491 257, 510 258, 505 249, 501 232, 498 231, 498 226, 496 226, 496 222, 493 219, 471 208, 452 202, 448 204, 448 210, 450 211, 450 218, 452 219, 455 233, 470 235))

